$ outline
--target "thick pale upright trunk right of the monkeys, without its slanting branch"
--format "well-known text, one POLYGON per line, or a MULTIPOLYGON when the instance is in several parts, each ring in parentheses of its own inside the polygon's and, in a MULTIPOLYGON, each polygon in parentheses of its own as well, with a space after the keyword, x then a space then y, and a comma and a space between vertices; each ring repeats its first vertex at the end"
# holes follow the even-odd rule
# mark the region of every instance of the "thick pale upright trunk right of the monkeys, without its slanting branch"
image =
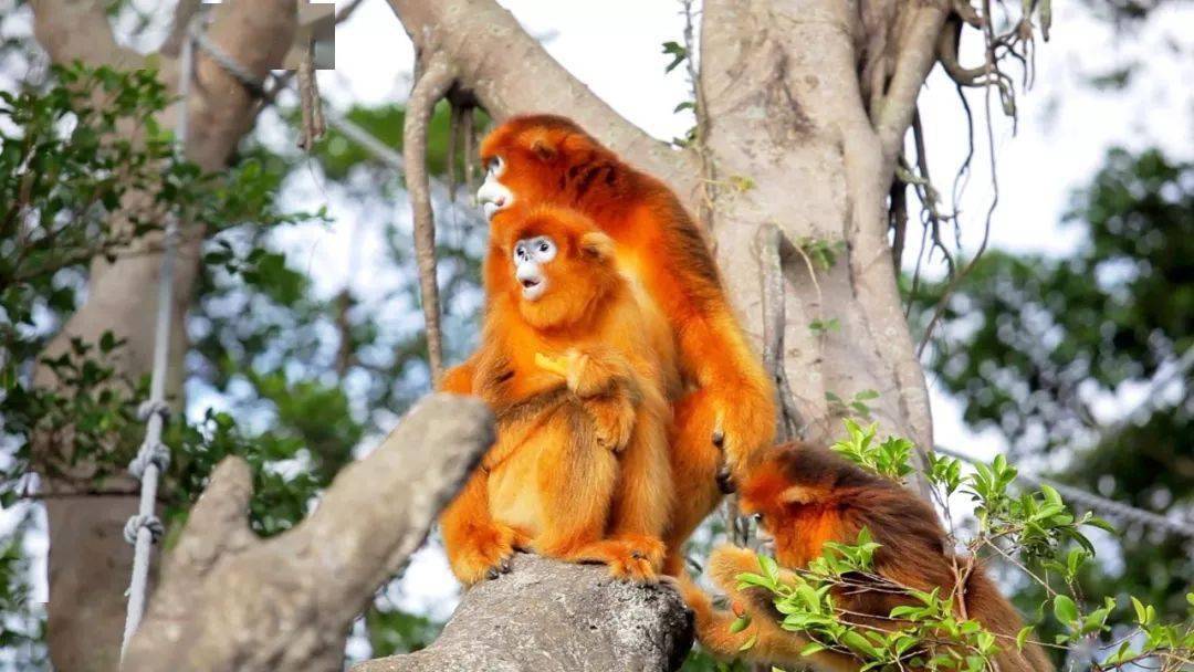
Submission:
MULTIPOLYGON (((923 14, 915 25, 930 39, 931 55, 944 12, 930 2, 907 5, 915 8, 905 12, 923 14)), ((886 197, 933 61, 897 61, 917 68, 917 86, 906 99, 888 90, 880 109, 900 116, 888 131, 873 124, 863 103, 857 44, 866 33, 853 4, 707 0, 701 35, 700 86, 718 195, 710 229, 747 331, 758 343, 765 273, 757 232, 773 223, 786 240, 782 360, 810 438, 841 433, 843 409, 826 394, 849 402, 874 390, 879 397, 867 403, 884 431, 931 446, 928 390, 887 245, 886 197), (844 245, 827 270, 805 249, 818 243, 844 245), (813 320, 839 327, 814 331, 813 320)))

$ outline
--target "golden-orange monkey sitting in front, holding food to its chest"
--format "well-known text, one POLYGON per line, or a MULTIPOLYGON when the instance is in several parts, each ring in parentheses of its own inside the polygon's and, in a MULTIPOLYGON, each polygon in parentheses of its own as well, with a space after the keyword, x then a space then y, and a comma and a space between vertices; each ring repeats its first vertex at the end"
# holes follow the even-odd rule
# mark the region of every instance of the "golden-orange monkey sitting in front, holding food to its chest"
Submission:
POLYGON ((667 461, 675 371, 614 241, 579 212, 505 210, 491 227, 481 346, 444 389, 480 396, 497 443, 441 518, 464 584, 509 568, 516 548, 654 580, 673 488, 667 461))

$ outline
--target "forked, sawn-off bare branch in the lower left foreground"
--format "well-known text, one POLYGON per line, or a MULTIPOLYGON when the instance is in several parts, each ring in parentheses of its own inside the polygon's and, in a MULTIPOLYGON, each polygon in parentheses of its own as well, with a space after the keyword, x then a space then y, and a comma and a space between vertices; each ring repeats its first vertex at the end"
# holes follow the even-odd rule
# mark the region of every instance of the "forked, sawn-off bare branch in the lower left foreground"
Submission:
POLYGON ((127 670, 330 670, 352 618, 401 567, 493 440, 484 403, 419 402, 345 468, 315 513, 271 540, 248 532, 248 467, 213 474, 162 572, 127 670))

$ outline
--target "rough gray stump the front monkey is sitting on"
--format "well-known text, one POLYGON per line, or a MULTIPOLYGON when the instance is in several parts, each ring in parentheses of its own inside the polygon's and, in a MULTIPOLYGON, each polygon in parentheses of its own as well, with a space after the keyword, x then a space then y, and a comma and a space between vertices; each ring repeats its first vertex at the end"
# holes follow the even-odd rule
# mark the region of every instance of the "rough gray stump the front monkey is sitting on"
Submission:
POLYGON ((691 615, 670 587, 519 554, 510 574, 464 593, 430 647, 352 672, 676 670, 691 646, 691 615))

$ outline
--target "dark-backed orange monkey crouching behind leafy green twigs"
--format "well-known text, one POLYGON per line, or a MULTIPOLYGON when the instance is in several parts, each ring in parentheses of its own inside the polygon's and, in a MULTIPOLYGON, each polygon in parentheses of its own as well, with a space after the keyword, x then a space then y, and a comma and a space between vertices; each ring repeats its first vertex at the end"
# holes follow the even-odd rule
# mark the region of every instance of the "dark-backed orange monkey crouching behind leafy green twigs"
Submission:
MULTIPOLYGON (((807 444, 778 446, 752 468, 739 487, 739 506, 753 514, 774 540, 775 560, 782 567, 804 568, 821 555, 825 542, 853 544, 866 528, 875 542, 874 569, 891 582, 941 594, 955 590, 955 562, 944 548, 946 532, 929 504, 899 483, 863 470, 826 448, 807 444)), ((783 630, 783 621, 769 591, 739 588, 738 575, 759 573, 753 551, 722 547, 709 557, 709 575, 734 603, 734 610, 713 608, 709 596, 687 577, 679 580, 684 600, 696 615, 697 637, 715 655, 768 661, 774 665, 812 664, 819 670, 856 671, 858 659, 823 651, 804 658, 800 649, 810 643, 799 633, 783 630), (750 616, 750 625, 738 633, 731 624, 738 615, 750 616), (741 647, 755 636, 747 651, 741 647)), ((790 581, 790 573, 781 571, 790 581)), ((912 604, 906 594, 890 586, 879 590, 835 588, 833 598, 843 621, 892 629, 886 618, 892 608, 912 604)), ((998 637, 995 662, 1001 672, 1047 672, 1053 670, 1036 645, 1016 649, 1016 634, 1023 623, 999 594, 981 567, 974 566, 965 584, 966 615, 998 637)))

